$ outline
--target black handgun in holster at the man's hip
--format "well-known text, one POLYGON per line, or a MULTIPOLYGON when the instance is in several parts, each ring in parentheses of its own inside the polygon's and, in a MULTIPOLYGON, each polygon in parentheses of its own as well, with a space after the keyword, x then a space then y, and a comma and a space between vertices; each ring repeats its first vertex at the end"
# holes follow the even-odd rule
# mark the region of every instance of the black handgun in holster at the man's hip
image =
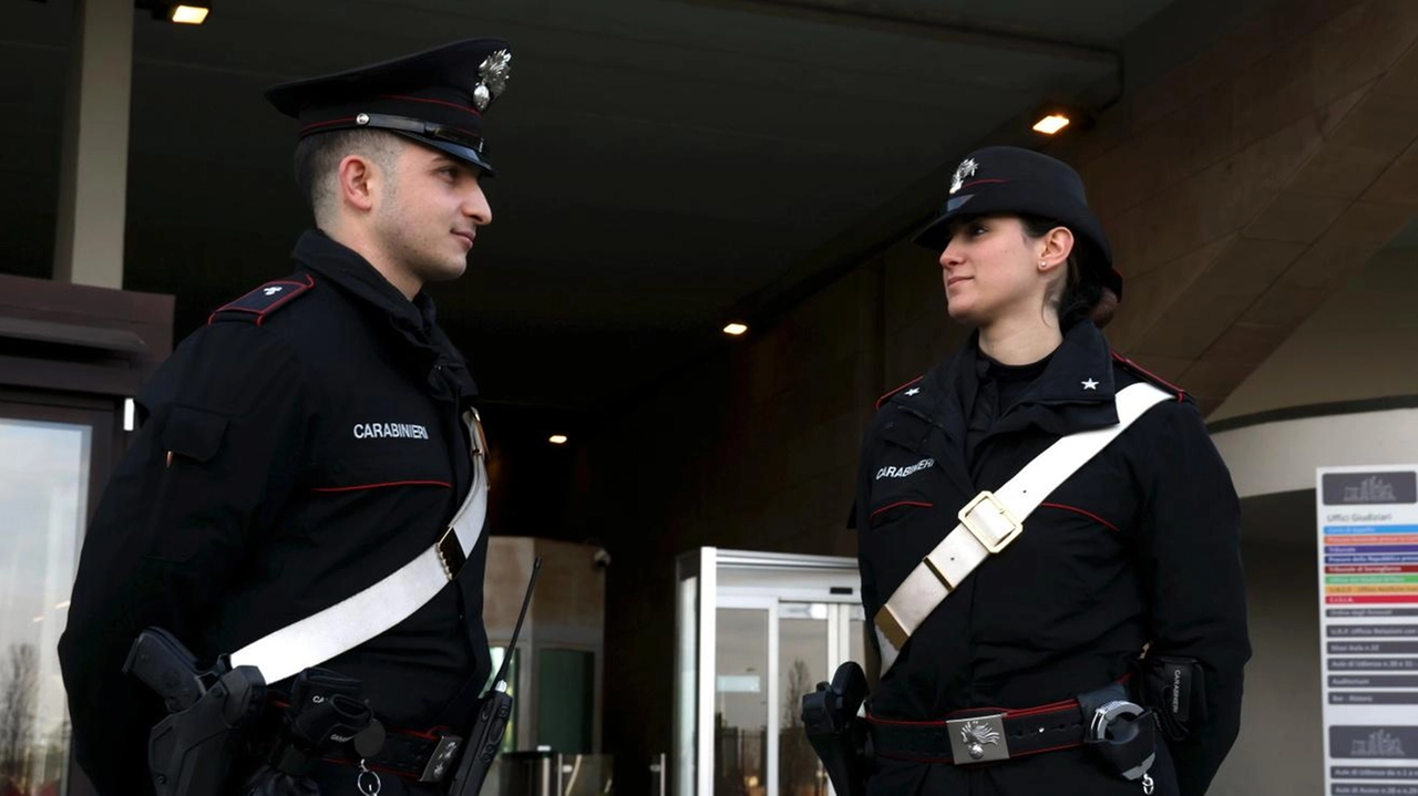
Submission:
POLYGON ((221 793, 248 727, 265 704, 265 678, 254 666, 224 659, 208 670, 172 633, 149 627, 128 652, 123 673, 163 698, 167 715, 147 738, 147 768, 157 796, 221 793))

